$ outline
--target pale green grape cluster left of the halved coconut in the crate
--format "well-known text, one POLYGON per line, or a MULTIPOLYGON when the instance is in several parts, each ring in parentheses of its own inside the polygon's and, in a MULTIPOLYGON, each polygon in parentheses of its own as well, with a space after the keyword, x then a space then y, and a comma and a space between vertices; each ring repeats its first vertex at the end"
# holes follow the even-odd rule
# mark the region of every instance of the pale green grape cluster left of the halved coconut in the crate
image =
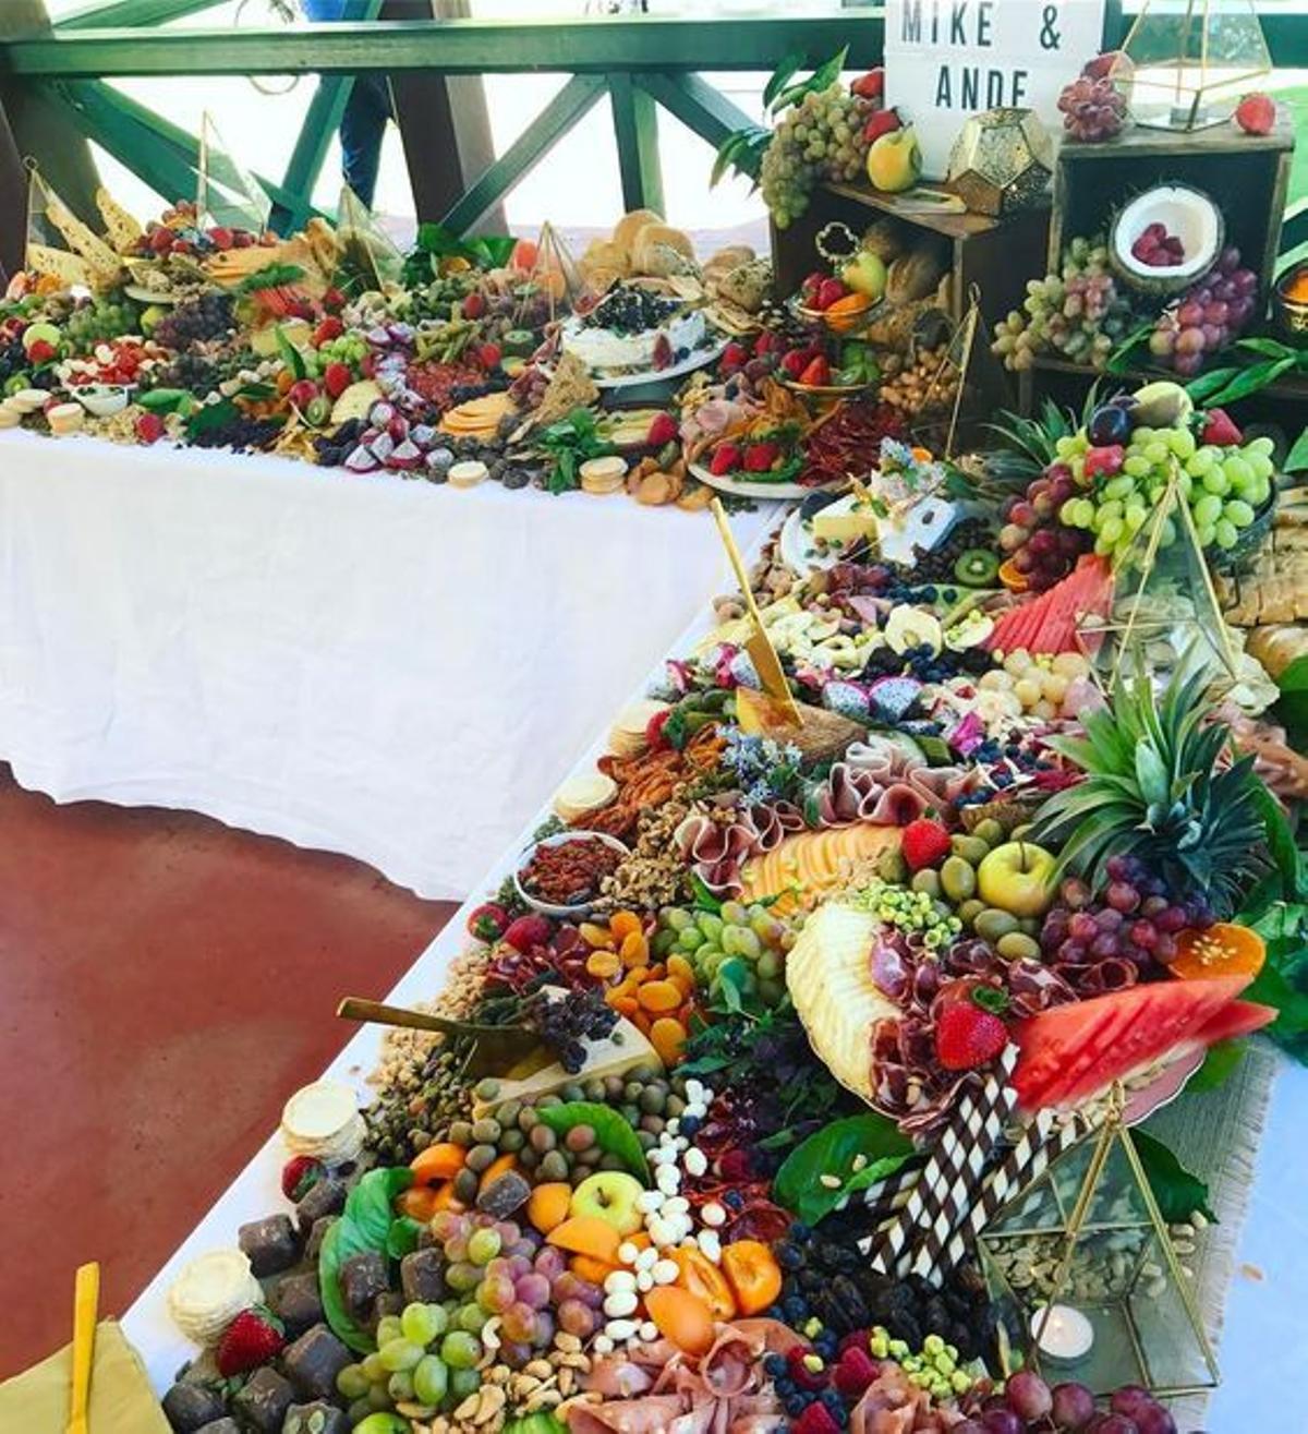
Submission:
POLYGON ((1021 311, 1014 308, 994 328, 991 353, 1006 369, 1030 369, 1047 353, 1102 369, 1130 327, 1130 301, 1109 272, 1102 239, 1074 238, 1062 272, 1029 280, 1026 290, 1021 311))

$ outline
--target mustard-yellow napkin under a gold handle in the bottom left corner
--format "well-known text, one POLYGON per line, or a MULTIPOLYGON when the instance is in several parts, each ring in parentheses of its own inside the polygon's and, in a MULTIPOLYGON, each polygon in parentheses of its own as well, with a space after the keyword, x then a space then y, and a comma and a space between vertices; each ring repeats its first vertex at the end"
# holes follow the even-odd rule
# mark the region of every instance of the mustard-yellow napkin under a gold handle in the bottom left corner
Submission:
MULTIPOLYGON (((0 1430, 23 1434, 64 1434, 73 1347, 0 1384, 0 1430)), ((168 1420, 145 1375, 136 1351, 115 1319, 96 1326, 95 1368, 90 1377, 90 1434, 170 1434, 168 1420)))

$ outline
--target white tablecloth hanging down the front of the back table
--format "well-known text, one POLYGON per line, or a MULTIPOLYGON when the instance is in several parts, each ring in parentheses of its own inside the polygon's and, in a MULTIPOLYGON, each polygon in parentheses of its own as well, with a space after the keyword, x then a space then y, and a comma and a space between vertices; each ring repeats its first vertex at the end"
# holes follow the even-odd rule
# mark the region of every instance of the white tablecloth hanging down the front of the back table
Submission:
POLYGON ((625 496, 7 433, 0 760, 461 898, 726 571, 625 496))

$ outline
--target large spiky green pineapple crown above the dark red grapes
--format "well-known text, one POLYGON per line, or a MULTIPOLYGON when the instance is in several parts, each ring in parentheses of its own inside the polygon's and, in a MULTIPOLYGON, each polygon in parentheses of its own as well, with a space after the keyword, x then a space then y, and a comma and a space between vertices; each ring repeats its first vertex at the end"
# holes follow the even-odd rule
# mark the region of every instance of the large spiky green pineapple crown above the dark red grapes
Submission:
POLYGON ((1265 789, 1252 757, 1225 760, 1231 731, 1205 723, 1205 674, 1173 675, 1155 697, 1143 668, 1082 718, 1085 737, 1050 746, 1085 771, 1040 809, 1033 840, 1063 845, 1059 870, 1099 888, 1110 856, 1135 856, 1178 901, 1228 916, 1268 869, 1265 789))

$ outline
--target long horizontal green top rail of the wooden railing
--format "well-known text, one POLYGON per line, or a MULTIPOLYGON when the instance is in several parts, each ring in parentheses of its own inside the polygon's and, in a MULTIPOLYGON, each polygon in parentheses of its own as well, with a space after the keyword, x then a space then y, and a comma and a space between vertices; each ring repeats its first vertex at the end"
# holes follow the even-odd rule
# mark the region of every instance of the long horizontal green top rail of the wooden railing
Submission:
POLYGON ((14 75, 340 75, 357 70, 437 70, 511 75, 554 70, 771 70, 801 50, 814 59, 850 46, 850 66, 881 57, 880 10, 804 19, 689 20, 595 17, 560 20, 387 20, 367 26, 311 24, 225 30, 80 30, 0 46, 0 70, 14 75))

